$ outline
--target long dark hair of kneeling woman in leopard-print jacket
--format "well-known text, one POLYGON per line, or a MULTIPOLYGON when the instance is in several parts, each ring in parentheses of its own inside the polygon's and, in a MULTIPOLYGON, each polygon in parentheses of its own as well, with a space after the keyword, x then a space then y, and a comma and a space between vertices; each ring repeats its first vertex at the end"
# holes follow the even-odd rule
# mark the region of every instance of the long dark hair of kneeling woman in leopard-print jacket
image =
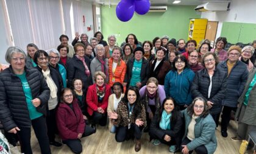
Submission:
POLYGON ((141 102, 140 93, 136 86, 130 86, 128 89, 126 89, 126 94, 124 95, 122 102, 126 103, 126 105, 128 107, 129 101, 128 101, 127 95, 128 95, 128 91, 130 91, 130 90, 134 91, 137 96, 135 102, 133 103, 133 105, 134 105, 133 113, 135 116, 138 116, 141 113, 141 110, 144 105, 143 105, 143 102, 141 102))

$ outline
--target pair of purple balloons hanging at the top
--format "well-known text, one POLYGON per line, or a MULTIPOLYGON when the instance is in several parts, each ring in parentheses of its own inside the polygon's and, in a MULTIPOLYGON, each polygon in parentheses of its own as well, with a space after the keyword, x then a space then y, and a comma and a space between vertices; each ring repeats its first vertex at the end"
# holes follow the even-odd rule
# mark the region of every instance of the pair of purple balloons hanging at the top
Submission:
POLYGON ((121 21, 132 19, 134 11, 144 15, 149 11, 149 0, 121 0, 116 6, 116 16, 121 21))

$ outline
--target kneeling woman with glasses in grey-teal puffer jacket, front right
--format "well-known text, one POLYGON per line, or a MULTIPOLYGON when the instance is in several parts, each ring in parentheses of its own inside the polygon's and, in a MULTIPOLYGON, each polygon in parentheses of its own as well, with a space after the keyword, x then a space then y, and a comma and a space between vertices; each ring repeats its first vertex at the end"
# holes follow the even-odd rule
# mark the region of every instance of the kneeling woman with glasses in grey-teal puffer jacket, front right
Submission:
POLYGON ((206 101, 202 97, 196 97, 182 113, 185 118, 182 153, 195 151, 198 154, 213 154, 217 148, 216 125, 209 114, 206 101))

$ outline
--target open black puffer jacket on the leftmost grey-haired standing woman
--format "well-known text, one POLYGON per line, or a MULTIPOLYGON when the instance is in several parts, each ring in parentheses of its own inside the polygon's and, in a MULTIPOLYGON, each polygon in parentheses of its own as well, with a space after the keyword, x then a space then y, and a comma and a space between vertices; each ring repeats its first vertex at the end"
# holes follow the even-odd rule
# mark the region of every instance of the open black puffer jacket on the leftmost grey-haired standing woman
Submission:
MULTIPOLYGON (((25 71, 32 99, 38 98, 41 100, 37 111, 45 115, 46 103, 50 96, 47 83, 37 69, 25 68, 25 71)), ((0 74, 0 121, 7 131, 15 127, 31 126, 23 86, 20 78, 13 73, 12 66, 0 74)))

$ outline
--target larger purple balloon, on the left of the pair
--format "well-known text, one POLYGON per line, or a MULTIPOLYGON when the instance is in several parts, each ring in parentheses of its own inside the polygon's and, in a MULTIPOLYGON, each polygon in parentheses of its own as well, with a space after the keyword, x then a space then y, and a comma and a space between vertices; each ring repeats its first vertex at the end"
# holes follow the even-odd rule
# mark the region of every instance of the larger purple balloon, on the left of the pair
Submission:
POLYGON ((126 22, 132 19, 135 7, 134 0, 122 0, 116 6, 116 16, 119 20, 126 22))

